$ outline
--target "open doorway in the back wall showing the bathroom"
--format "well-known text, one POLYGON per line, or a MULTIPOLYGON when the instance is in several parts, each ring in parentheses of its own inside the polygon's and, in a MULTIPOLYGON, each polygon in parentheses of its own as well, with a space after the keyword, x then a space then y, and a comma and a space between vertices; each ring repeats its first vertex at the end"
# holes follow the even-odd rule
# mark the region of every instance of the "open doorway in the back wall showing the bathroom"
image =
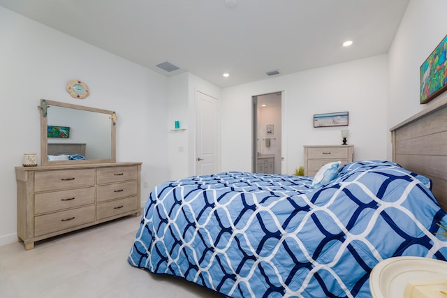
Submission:
POLYGON ((253 96, 252 171, 281 174, 281 92, 253 96))

